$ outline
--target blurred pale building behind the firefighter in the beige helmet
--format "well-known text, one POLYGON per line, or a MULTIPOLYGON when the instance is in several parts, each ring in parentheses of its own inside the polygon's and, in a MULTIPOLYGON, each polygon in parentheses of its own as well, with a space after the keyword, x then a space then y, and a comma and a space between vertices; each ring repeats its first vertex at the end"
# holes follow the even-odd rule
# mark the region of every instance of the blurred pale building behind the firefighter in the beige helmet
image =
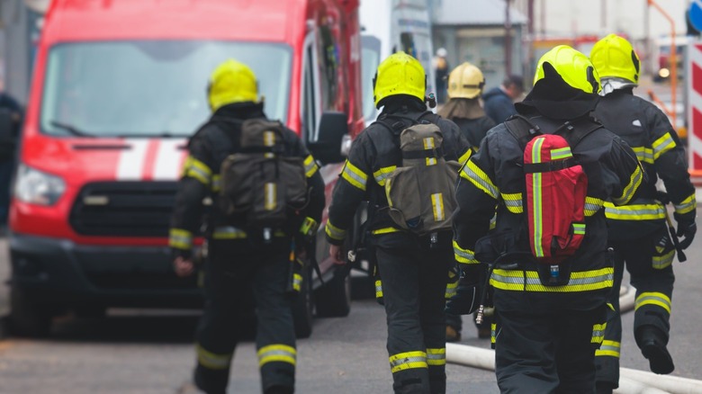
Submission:
POLYGON ((527 17, 509 9, 511 51, 506 53, 506 2, 503 0, 430 0, 434 48, 446 48, 450 67, 470 61, 482 69, 488 87, 508 74, 525 74, 527 17), (511 68, 507 69, 508 57, 511 68))

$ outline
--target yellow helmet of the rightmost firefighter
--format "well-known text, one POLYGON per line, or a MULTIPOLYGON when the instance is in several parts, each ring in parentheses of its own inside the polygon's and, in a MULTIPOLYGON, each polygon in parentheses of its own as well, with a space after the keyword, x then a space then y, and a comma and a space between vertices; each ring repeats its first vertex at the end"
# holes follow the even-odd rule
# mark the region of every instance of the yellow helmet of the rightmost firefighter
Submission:
POLYGON ((609 34, 595 43, 590 50, 592 65, 604 78, 623 78, 638 84, 641 61, 631 43, 626 39, 609 34))

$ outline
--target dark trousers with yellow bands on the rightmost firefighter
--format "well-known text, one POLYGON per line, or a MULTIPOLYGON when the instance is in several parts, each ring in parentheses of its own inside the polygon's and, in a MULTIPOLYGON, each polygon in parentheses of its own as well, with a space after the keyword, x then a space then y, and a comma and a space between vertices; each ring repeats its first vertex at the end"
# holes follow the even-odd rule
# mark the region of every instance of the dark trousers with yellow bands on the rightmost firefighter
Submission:
POLYGON ((639 343, 641 327, 653 326, 660 330, 667 344, 671 331, 671 300, 675 275, 672 271, 674 250, 656 251, 656 241, 666 234, 656 232, 647 237, 629 241, 610 242, 615 250, 614 286, 609 294, 605 340, 596 353, 597 381, 612 388, 619 386, 619 354, 622 342, 622 318, 619 313, 619 288, 624 269, 636 288, 634 335, 639 343))

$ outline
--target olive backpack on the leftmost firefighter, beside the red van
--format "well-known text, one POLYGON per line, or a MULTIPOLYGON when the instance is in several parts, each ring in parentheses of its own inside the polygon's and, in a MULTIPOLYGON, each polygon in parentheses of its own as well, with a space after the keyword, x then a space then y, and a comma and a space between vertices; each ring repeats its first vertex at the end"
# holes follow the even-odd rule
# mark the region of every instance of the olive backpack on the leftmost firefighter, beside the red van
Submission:
POLYGON ((240 150, 221 165, 220 209, 244 215, 248 230, 294 226, 296 211, 308 201, 302 157, 284 156, 284 126, 251 119, 241 124, 240 150))

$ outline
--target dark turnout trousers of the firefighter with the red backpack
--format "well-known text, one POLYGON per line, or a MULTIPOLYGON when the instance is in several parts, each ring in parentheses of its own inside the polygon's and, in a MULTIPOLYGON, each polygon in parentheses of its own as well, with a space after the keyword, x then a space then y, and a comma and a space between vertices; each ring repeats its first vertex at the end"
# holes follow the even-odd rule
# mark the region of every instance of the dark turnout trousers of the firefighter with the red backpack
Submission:
MULTIPOLYGON (((497 290, 496 290, 497 291, 497 290)), ((495 372, 505 394, 593 394, 606 306, 533 313, 496 309, 495 372)))

